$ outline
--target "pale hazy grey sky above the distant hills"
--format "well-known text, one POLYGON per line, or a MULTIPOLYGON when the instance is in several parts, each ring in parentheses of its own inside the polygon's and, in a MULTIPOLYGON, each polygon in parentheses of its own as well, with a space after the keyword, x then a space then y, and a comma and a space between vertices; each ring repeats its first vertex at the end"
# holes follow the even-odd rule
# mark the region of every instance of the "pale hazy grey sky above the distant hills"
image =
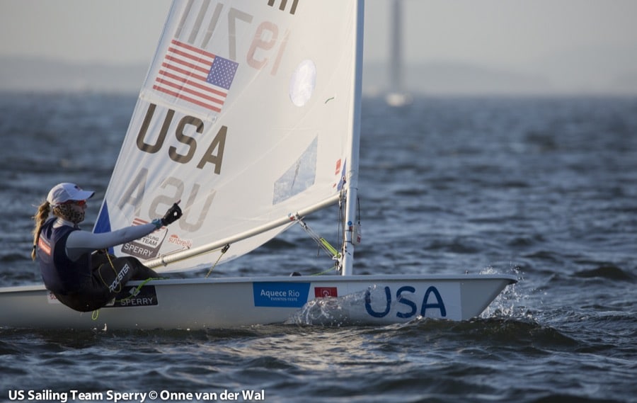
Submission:
MULTIPOLYGON (((0 0, 0 55, 147 63, 169 4, 0 0)), ((389 52, 389 4, 366 2, 367 61, 389 52)), ((403 8, 408 62, 466 62, 563 79, 637 76, 637 0, 404 0, 403 8)))

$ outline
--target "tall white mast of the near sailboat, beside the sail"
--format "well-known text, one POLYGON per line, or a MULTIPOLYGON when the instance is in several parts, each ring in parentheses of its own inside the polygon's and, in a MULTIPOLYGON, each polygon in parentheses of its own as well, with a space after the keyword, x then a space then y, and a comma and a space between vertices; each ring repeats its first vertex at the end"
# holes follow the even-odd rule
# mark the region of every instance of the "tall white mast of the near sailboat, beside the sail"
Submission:
POLYGON ((356 33, 354 35, 356 61, 354 69, 354 97, 352 102, 352 113, 350 127, 352 130, 352 142, 350 144, 350 155, 348 156, 349 169, 346 173, 345 183, 345 239, 343 240, 343 260, 341 274, 350 276, 354 263, 354 247, 357 242, 354 237, 358 233, 358 222, 356 217, 357 191, 358 191, 358 161, 360 154, 360 102, 362 92, 362 52, 363 52, 363 28, 365 19, 365 1, 357 0, 356 10, 356 33))

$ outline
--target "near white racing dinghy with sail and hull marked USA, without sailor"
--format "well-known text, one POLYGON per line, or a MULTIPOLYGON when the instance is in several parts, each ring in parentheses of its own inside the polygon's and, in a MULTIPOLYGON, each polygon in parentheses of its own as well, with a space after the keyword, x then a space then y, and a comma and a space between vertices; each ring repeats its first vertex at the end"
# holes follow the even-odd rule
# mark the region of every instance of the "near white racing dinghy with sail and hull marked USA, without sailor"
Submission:
POLYGON ((174 1, 93 229, 143 224, 180 200, 180 220, 111 251, 168 278, 127 283, 88 313, 42 285, 2 288, 0 327, 282 324, 327 302, 342 324, 481 314, 515 276, 353 273, 363 6, 174 1), (330 275, 171 278, 237 259, 332 205, 343 209, 342 245, 315 236, 330 252, 330 275))

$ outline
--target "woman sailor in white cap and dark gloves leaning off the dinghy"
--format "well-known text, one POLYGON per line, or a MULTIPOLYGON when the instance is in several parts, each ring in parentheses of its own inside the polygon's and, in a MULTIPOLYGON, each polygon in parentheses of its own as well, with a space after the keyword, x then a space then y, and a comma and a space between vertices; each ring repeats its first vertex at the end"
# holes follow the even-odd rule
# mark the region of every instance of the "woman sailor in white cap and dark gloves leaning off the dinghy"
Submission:
POLYGON ((81 231, 86 200, 94 192, 74 183, 54 186, 33 219, 33 260, 40 263, 45 286, 67 307, 81 312, 108 304, 128 280, 145 280, 159 275, 132 256, 115 257, 108 248, 145 237, 181 217, 177 203, 163 218, 113 232, 93 234, 81 231), (50 212, 54 217, 49 218, 50 212))

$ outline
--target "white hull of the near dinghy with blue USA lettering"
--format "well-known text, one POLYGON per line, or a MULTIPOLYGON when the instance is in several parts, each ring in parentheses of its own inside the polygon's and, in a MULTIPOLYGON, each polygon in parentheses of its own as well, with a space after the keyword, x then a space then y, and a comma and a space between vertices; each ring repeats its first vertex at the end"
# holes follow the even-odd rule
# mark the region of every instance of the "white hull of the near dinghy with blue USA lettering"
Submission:
POLYGON ((215 329, 254 324, 390 324, 416 317, 476 317, 509 275, 294 276, 153 280, 94 312, 62 305, 40 285, 0 289, 0 327, 215 329), (96 319, 94 319, 96 317, 96 319))

